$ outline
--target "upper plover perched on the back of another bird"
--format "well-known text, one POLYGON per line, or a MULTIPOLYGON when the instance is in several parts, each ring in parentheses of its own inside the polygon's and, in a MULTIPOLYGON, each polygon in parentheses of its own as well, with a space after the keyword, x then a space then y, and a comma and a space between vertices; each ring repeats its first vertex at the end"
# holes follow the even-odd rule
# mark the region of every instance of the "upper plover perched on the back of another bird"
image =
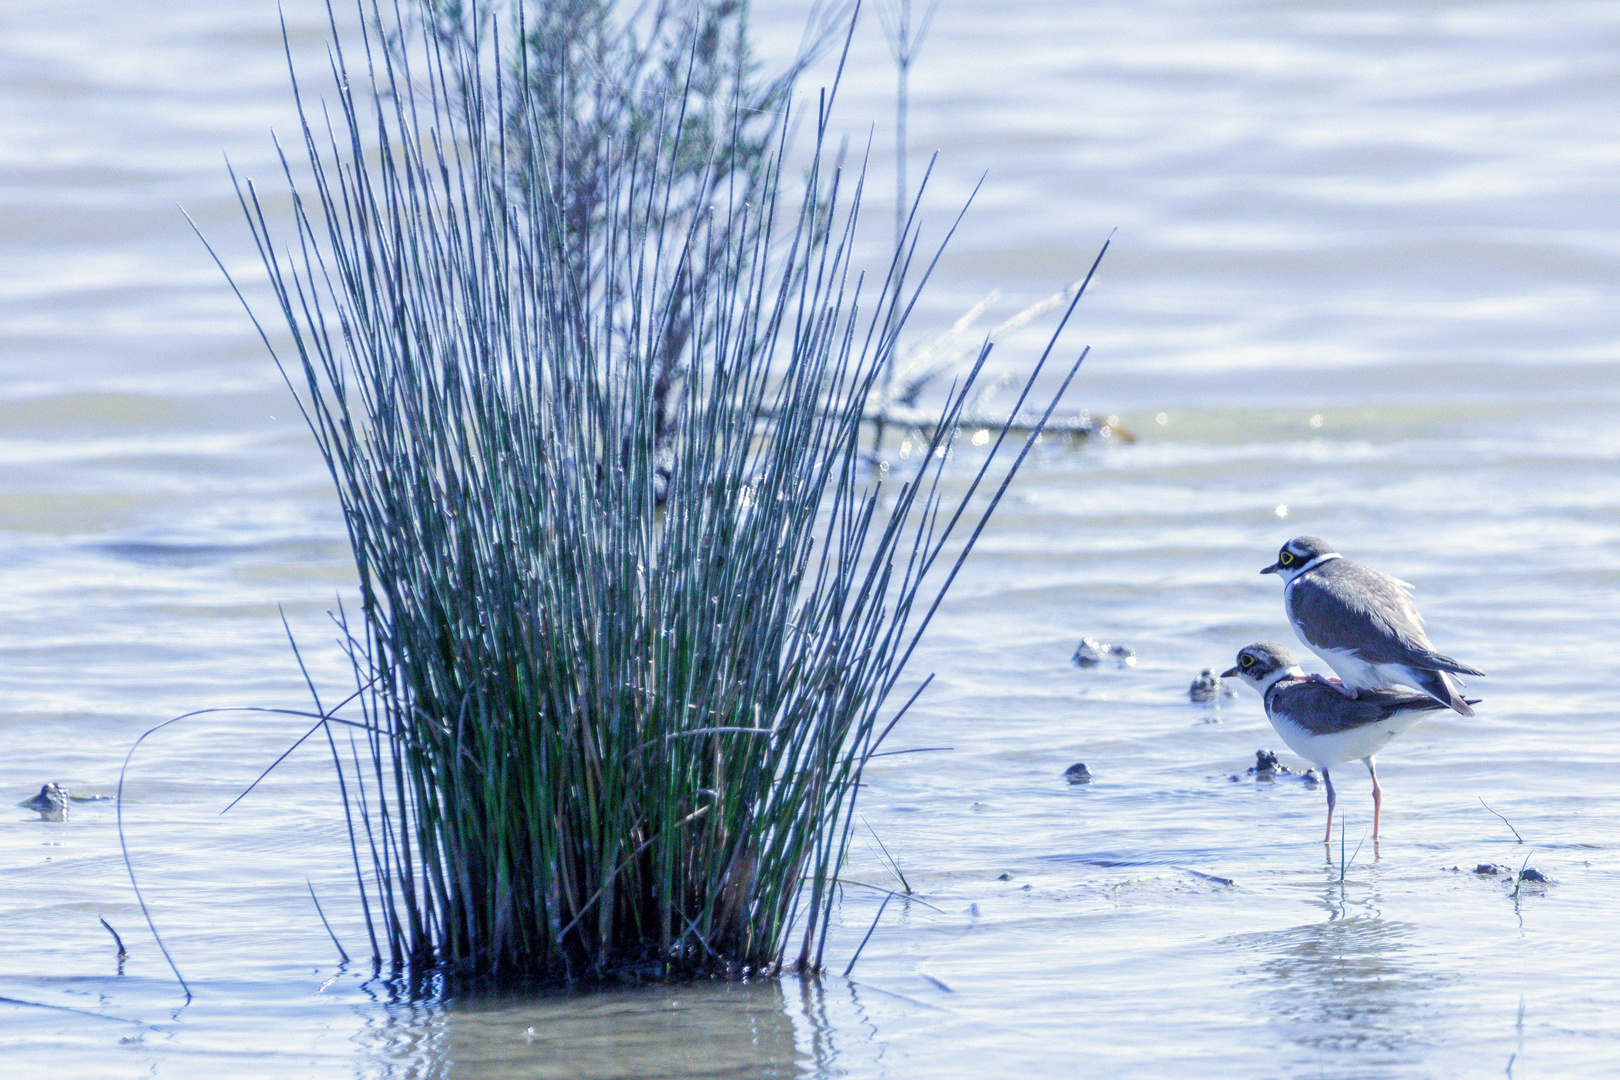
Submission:
POLYGON ((1341 557, 1315 536, 1296 536, 1260 570, 1283 580, 1283 609, 1299 640, 1343 678, 1343 693, 1411 687, 1463 716, 1474 711, 1455 675, 1484 675, 1435 653, 1413 586, 1341 557))

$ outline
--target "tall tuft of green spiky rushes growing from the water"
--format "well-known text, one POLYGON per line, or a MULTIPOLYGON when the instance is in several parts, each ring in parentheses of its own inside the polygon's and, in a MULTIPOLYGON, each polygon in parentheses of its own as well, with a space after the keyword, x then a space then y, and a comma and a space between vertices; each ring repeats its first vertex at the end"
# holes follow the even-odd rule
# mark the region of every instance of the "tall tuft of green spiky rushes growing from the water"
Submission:
POLYGON ((784 139, 748 185, 688 168, 740 125, 693 91, 608 131, 580 215, 530 50, 390 26, 300 92, 290 223, 238 180, 358 570, 363 716, 329 740, 374 960, 820 970, 862 769, 1016 470, 1004 432, 951 463, 988 347, 886 479, 862 415, 927 267, 909 235, 862 308, 828 94, 797 198, 784 139))

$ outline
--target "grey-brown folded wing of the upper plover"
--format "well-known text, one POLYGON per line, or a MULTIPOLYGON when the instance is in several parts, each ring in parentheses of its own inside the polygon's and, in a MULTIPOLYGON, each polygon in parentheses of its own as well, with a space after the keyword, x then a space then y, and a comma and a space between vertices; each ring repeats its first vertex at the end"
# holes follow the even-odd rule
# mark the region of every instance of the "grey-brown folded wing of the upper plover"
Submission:
POLYGON ((1348 559, 1325 562, 1296 581, 1288 614, 1312 648, 1348 649, 1369 664, 1439 656, 1406 586, 1348 559))

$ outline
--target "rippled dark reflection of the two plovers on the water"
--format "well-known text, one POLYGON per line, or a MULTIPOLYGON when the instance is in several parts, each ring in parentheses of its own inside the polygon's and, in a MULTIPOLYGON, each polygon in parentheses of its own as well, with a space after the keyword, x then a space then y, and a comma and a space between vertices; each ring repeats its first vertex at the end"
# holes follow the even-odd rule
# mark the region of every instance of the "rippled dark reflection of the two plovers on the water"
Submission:
POLYGON ((1290 1041, 1315 1051, 1401 1051, 1421 1038, 1424 999, 1445 975, 1411 952, 1416 928, 1348 913, 1335 882, 1325 921, 1230 939, 1265 959, 1249 986, 1290 1041))

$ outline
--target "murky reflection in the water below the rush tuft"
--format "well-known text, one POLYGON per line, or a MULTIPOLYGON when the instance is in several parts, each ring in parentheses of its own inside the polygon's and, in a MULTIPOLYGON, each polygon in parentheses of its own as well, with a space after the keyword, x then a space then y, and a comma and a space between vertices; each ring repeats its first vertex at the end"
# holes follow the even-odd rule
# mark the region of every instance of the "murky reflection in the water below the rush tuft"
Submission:
POLYGON ((776 981, 402 1004, 381 1017, 358 1069, 377 1080, 770 1080, 804 1065, 776 981))

